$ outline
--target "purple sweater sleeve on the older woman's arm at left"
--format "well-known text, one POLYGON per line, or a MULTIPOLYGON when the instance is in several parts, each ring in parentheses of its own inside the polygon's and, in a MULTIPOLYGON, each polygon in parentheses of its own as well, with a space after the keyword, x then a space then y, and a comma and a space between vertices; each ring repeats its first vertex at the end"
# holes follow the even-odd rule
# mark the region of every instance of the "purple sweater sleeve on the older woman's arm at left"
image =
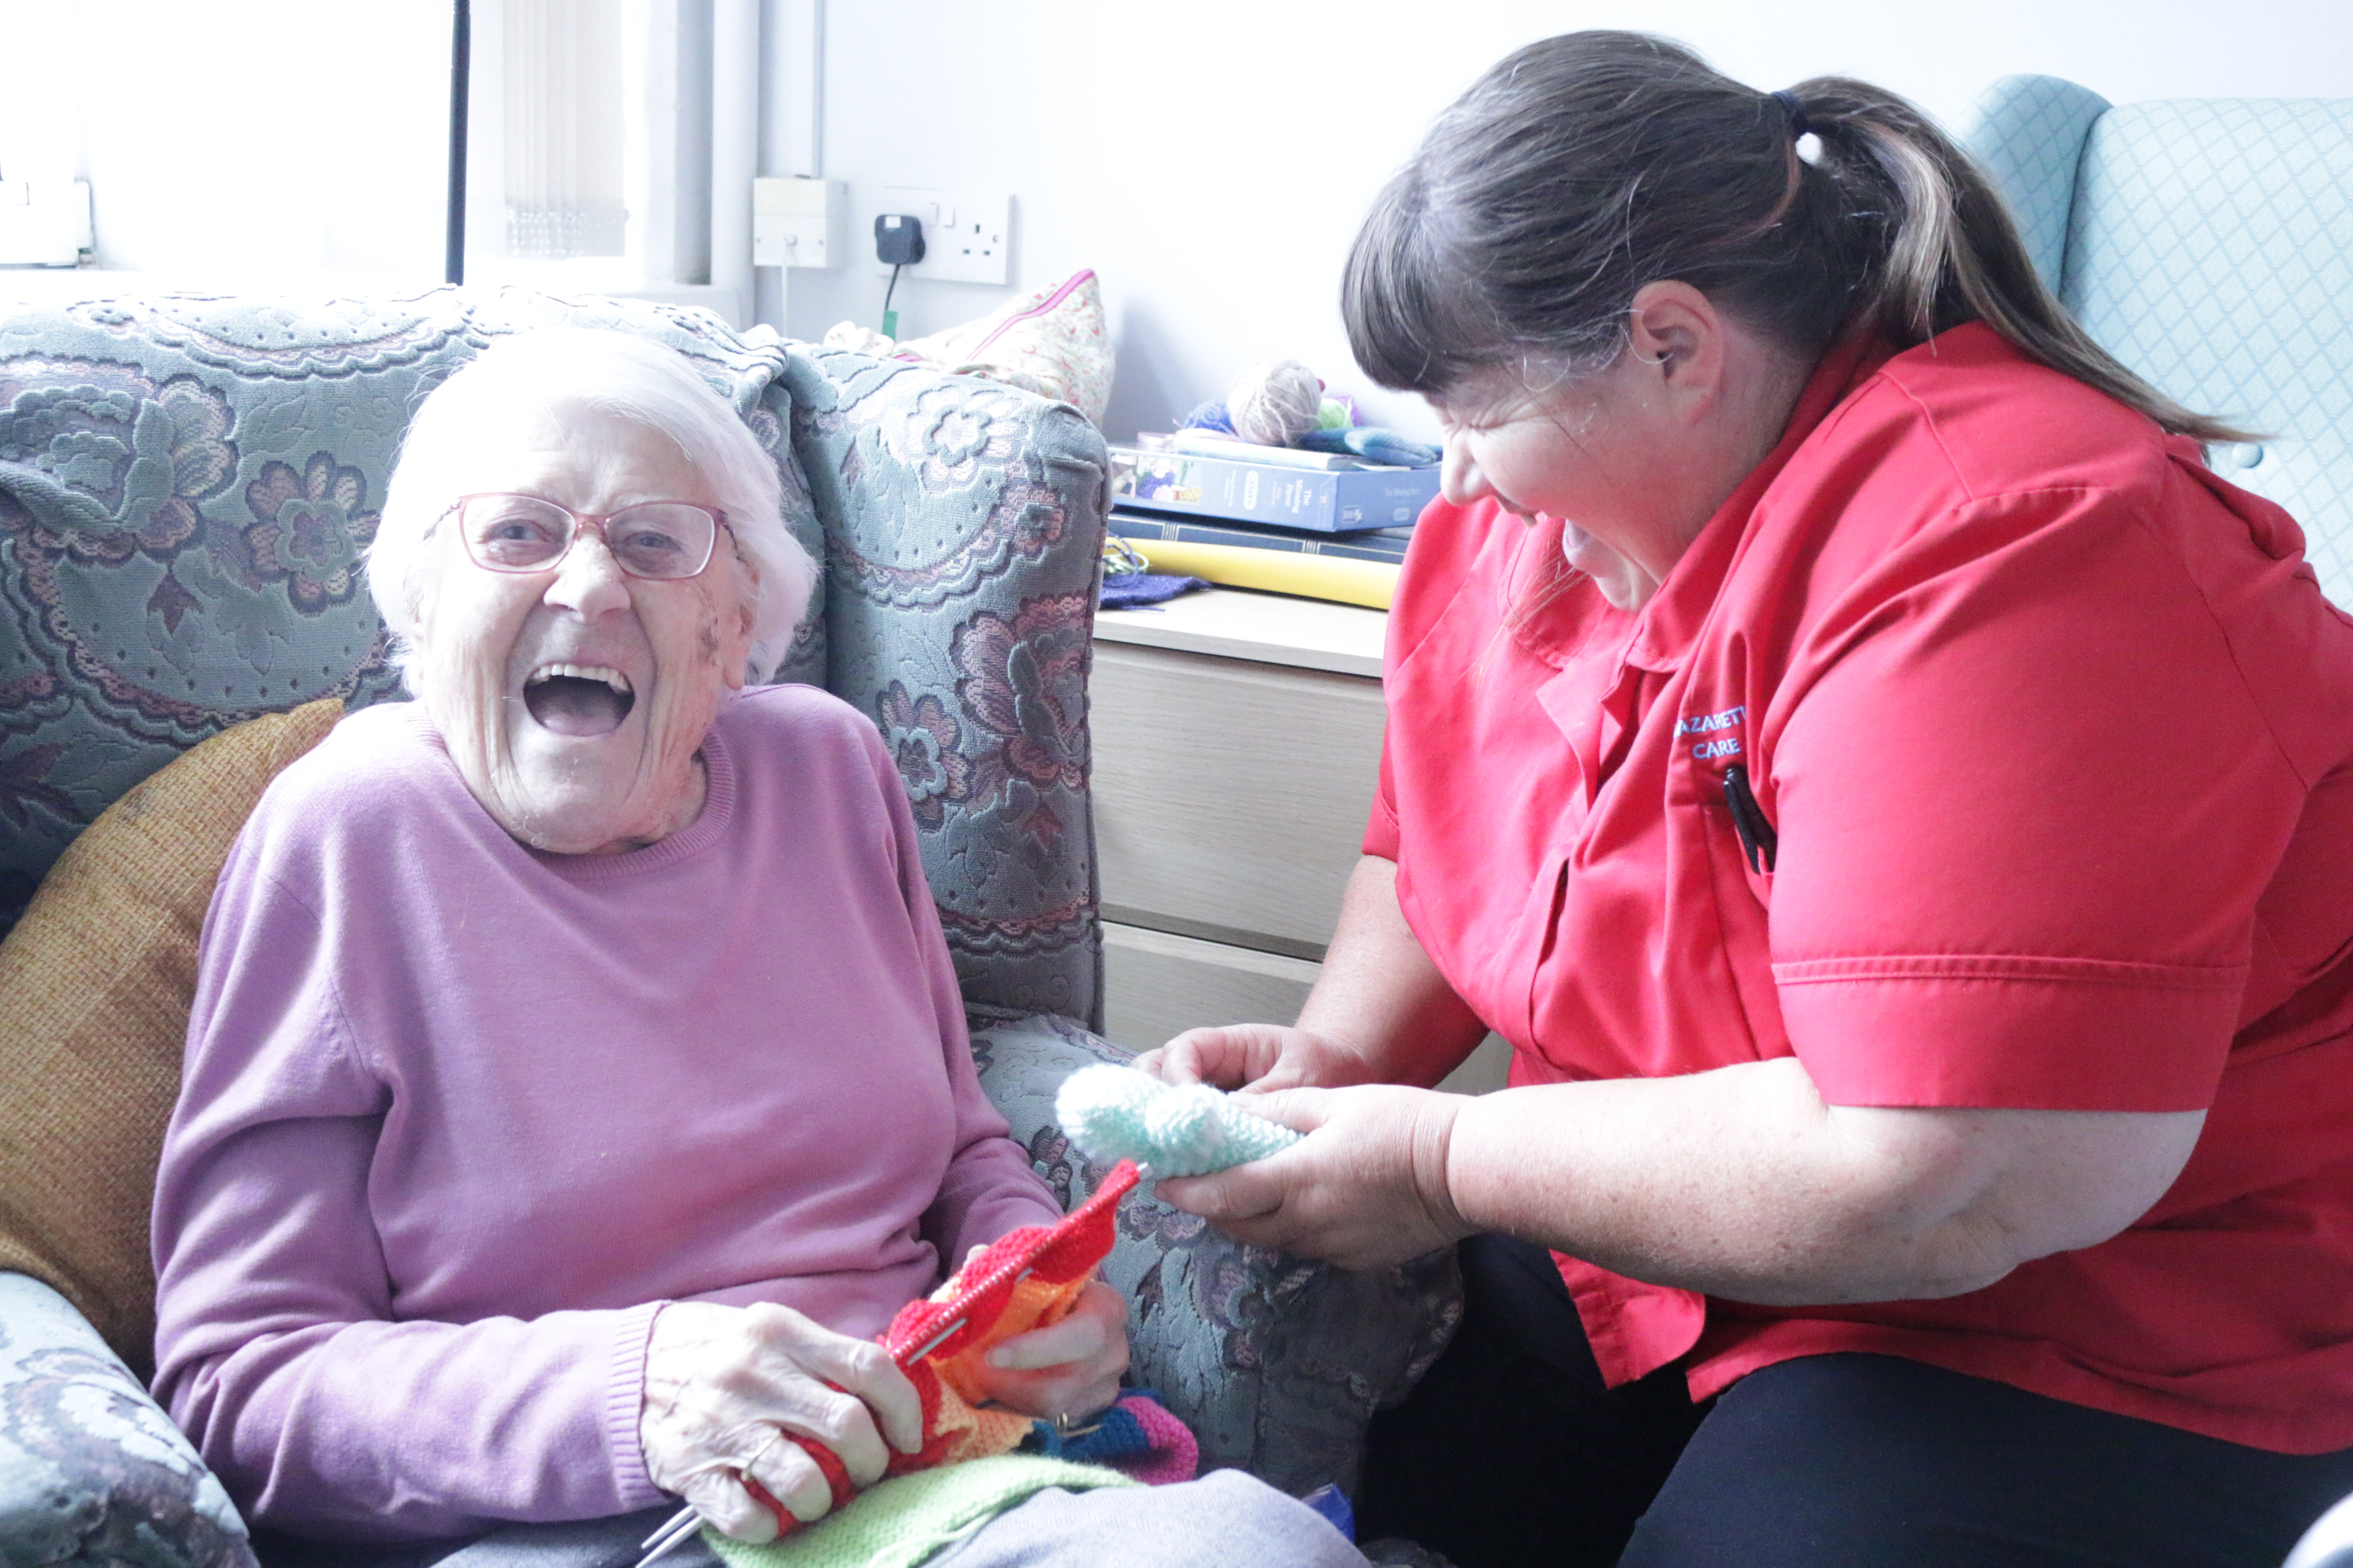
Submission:
POLYGON ((388 1093, 332 964, 360 933, 259 860, 240 844, 214 893, 165 1135, 158 1396, 238 1505, 294 1533, 435 1537, 659 1502, 635 1434, 652 1302, 400 1321, 367 1199, 388 1093))

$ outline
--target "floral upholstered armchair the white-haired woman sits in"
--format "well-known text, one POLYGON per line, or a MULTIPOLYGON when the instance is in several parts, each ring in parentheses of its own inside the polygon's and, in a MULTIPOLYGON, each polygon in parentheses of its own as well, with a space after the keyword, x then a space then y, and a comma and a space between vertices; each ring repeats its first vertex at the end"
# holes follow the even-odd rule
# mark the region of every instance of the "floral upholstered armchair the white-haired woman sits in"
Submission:
MULTIPOLYGON (((885 733, 981 1079, 1056 1194, 1085 1197, 1099 1171, 1054 1128, 1052 1093, 1120 1056, 1092 1034, 1104 444, 1071 407, 986 381, 527 292, 0 310, 0 929, 186 748, 322 696, 402 701, 360 550, 407 414, 494 336, 558 322, 678 348, 774 451, 788 522, 826 562, 779 679, 828 686, 885 733)), ((104 969, 104 943, 87 961, 104 969)), ((0 1229, 9 1173, 71 1164, 89 1131, 42 1114, 26 1079, 0 1060, 0 1229)), ((1136 1375, 1202 1462, 1294 1493, 1353 1481, 1369 1410, 1438 1354, 1457 1300, 1449 1258, 1341 1274, 1148 1197, 1108 1274, 1136 1375)), ((136 1324, 108 1342, 54 1284, 0 1272, 0 1563, 249 1561, 231 1500, 139 1385, 136 1324)))

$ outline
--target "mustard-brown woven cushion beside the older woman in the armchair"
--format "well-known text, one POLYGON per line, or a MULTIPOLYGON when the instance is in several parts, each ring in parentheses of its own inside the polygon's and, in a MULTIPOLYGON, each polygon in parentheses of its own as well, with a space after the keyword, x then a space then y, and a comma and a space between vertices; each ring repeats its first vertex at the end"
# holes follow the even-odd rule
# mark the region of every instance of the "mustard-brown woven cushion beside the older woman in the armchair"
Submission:
POLYGON ((66 849, 0 943, 0 1269, 61 1291, 141 1378, 195 936, 261 790, 339 717, 325 698, 191 750, 66 849))

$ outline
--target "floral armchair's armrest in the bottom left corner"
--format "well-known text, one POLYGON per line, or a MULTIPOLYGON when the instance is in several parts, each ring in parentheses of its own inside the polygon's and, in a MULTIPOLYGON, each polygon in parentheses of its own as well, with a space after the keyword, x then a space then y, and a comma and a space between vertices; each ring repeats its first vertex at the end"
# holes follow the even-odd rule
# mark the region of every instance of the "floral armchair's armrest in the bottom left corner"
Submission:
POLYGON ((0 1563, 254 1563, 228 1493, 99 1331, 5 1272, 0 1563))

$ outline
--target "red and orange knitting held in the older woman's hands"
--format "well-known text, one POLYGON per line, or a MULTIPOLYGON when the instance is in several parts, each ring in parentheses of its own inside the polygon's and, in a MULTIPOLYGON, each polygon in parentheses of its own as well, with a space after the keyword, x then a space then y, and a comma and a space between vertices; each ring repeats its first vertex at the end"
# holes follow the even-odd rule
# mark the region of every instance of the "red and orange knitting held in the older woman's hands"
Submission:
MULTIPOLYGON (((929 1298, 899 1309, 882 1347, 922 1399, 925 1443, 920 1453, 892 1453, 885 1476, 1009 1453, 1031 1434, 1028 1415, 979 1408, 984 1356, 1016 1333, 1059 1324, 1071 1312, 1094 1279, 1094 1265, 1111 1255, 1113 1218, 1134 1185, 1136 1168, 1122 1159, 1059 1225, 1024 1225, 998 1237, 929 1298)), ((791 1434, 786 1441, 816 1460, 833 1486, 835 1509, 856 1495, 849 1469, 831 1448, 791 1434)), ((776 1516, 779 1535, 800 1526, 758 1481, 744 1476, 744 1486, 776 1516)))

